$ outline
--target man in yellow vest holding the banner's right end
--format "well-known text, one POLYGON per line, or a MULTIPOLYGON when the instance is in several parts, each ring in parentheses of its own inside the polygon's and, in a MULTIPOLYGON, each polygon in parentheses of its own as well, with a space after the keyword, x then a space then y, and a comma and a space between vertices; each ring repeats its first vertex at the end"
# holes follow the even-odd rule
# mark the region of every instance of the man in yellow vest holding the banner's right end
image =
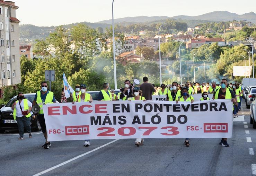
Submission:
MULTIPOLYGON (((228 81, 227 79, 223 78, 221 80, 221 88, 214 92, 212 99, 231 99, 233 104, 236 104, 237 106, 236 95, 233 91, 227 88, 227 86, 228 81)), ((224 147, 229 147, 229 144, 227 143, 227 138, 222 138, 219 144, 224 147)))

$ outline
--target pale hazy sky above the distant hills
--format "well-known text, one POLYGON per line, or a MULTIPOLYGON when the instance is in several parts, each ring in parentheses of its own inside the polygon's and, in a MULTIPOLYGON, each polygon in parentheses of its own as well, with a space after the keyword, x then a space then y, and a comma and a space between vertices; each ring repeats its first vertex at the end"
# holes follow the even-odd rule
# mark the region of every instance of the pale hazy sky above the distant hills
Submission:
MULTIPOLYGON (((112 0, 12 0, 20 24, 58 26, 112 19, 112 0)), ((212 11, 255 12, 256 0, 115 0, 114 18, 197 16, 212 11)))

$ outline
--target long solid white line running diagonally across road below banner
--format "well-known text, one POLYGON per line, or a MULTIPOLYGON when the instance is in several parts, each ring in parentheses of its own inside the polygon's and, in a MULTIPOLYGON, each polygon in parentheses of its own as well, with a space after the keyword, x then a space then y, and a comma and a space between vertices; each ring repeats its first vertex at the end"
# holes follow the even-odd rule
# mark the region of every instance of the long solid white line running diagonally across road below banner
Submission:
POLYGON ((85 155, 87 155, 87 154, 90 154, 90 153, 92 153, 92 152, 94 152, 94 151, 96 151, 96 150, 98 150, 98 149, 100 149, 100 148, 103 148, 103 147, 105 147, 105 146, 107 146, 107 145, 109 145, 109 144, 112 144, 112 143, 114 143, 114 142, 117 141, 117 140, 119 140, 119 139, 112 140, 111 142, 109 142, 109 143, 107 143, 107 144, 104 144, 104 145, 102 145, 102 146, 99 146, 99 147, 97 147, 97 148, 95 148, 95 149, 93 149, 93 150, 87 151, 86 153, 83 153, 83 154, 78 155, 78 156, 76 156, 76 157, 74 157, 74 158, 71 158, 71 159, 69 159, 69 160, 67 160, 67 161, 65 161, 65 162, 63 162, 63 163, 61 163, 61 164, 58 164, 58 165, 56 165, 56 166, 53 166, 53 167, 51 167, 51 168, 49 168, 49 169, 46 169, 46 170, 44 170, 44 171, 42 171, 42 172, 40 172, 40 173, 38 173, 38 174, 35 174, 35 175, 33 175, 33 176, 39 176, 39 175, 45 174, 45 173, 47 173, 47 172, 49 172, 49 171, 51 171, 51 170, 53 170, 53 169, 56 169, 56 168, 58 168, 58 167, 60 167, 60 166, 63 166, 63 165, 65 165, 65 164, 67 164, 67 163, 70 163, 70 162, 72 162, 73 160, 76 160, 76 159, 78 159, 78 158, 81 158, 81 157, 83 157, 83 156, 85 156, 85 155))

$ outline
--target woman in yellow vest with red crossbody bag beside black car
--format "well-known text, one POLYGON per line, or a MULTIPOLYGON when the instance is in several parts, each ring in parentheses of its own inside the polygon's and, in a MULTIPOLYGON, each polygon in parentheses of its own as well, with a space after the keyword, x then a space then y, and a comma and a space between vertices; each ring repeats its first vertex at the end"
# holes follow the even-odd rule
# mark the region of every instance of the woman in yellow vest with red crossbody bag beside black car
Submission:
MULTIPOLYGON (((32 109, 32 103, 25 99, 24 94, 19 92, 17 96, 17 101, 12 104, 11 109, 14 110, 13 117, 14 120, 17 121, 19 135, 18 139, 24 139, 24 127, 28 131, 28 137, 32 138, 31 128, 30 128, 30 120, 31 114, 30 111, 32 109)), ((33 115, 33 118, 35 116, 33 115)))

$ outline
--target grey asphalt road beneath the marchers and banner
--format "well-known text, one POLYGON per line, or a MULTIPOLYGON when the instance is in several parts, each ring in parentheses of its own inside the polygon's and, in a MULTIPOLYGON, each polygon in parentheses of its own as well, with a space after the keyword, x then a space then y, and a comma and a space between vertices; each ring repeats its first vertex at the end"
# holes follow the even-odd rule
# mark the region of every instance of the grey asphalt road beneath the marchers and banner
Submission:
POLYGON ((90 147, 53 141, 43 149, 42 133, 18 140, 12 130, 0 134, 0 175, 256 175, 256 129, 248 111, 243 100, 230 147, 219 145, 219 138, 195 138, 189 147, 184 139, 145 139, 140 147, 135 139, 119 139, 91 140, 90 147))

